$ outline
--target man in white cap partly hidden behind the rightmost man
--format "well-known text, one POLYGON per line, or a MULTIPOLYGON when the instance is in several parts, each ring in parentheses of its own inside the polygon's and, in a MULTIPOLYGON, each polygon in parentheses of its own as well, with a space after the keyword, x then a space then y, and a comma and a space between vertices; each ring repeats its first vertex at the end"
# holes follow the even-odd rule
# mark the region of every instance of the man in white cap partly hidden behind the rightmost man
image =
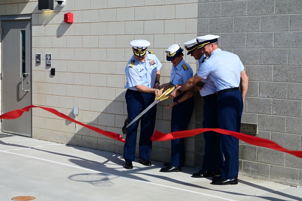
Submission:
MULTIPOLYGON (((202 48, 198 49, 196 38, 187 41, 183 45, 188 51, 187 54, 190 54, 192 57, 198 60, 199 68, 201 64, 209 58, 205 56, 202 48)), ((205 84, 199 92, 204 101, 203 128, 218 128, 216 86, 210 77, 203 79, 202 82, 205 82, 205 84)), ((203 133, 203 136, 205 140, 203 166, 198 173, 193 173, 192 177, 215 177, 216 174, 221 174, 220 170, 223 163, 220 134, 214 131, 207 131, 203 133)))

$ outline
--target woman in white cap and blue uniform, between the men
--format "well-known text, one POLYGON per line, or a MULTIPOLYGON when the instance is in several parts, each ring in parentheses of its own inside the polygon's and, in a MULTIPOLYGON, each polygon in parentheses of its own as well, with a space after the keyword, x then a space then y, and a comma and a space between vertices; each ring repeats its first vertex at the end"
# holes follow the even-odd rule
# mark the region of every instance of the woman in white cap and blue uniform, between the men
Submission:
MULTIPOLYGON (((182 52, 183 49, 177 44, 173 44, 167 49, 167 60, 172 63, 171 78, 170 82, 164 84, 162 88, 167 89, 169 86, 184 84, 193 76, 193 70, 183 59, 182 52)), ((167 104, 167 109, 172 108, 171 132, 187 130, 195 105, 193 92, 184 92, 173 101, 171 105, 167 104)), ((170 163, 165 163, 167 167, 162 168, 160 172, 180 172, 184 152, 184 138, 172 140, 170 163)))

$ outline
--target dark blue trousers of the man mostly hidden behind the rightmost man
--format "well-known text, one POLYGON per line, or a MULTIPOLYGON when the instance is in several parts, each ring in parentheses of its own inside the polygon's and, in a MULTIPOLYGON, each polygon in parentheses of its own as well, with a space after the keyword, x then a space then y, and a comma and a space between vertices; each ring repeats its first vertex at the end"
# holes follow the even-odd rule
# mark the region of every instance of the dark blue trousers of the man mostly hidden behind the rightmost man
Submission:
MULTIPOLYGON (((203 128, 218 128, 217 96, 204 100, 203 104, 203 128)), ((202 170, 219 171, 222 168, 223 154, 220 143, 220 134, 214 131, 203 133, 205 149, 202 170)))

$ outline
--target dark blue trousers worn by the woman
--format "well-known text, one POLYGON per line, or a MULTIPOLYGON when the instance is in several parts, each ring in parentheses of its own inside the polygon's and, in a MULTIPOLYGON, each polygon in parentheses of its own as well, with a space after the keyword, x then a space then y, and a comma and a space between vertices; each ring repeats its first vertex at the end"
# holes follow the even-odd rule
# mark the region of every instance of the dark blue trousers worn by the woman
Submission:
MULTIPOLYGON (((184 94, 173 99, 179 100, 184 94)), ((190 123, 195 105, 194 97, 175 105, 171 114, 171 132, 186 131, 190 123)), ((182 167, 185 157, 184 138, 171 140, 170 165, 182 167)))

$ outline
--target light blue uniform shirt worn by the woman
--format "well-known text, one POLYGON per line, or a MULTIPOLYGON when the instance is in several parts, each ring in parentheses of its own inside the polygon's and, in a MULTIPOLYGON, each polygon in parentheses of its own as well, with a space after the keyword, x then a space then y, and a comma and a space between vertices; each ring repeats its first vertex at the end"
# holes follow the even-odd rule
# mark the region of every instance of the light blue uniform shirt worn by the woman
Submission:
POLYGON ((184 84, 191 77, 193 77, 193 70, 184 59, 182 59, 177 66, 173 66, 172 64, 171 83, 173 86, 184 84))

